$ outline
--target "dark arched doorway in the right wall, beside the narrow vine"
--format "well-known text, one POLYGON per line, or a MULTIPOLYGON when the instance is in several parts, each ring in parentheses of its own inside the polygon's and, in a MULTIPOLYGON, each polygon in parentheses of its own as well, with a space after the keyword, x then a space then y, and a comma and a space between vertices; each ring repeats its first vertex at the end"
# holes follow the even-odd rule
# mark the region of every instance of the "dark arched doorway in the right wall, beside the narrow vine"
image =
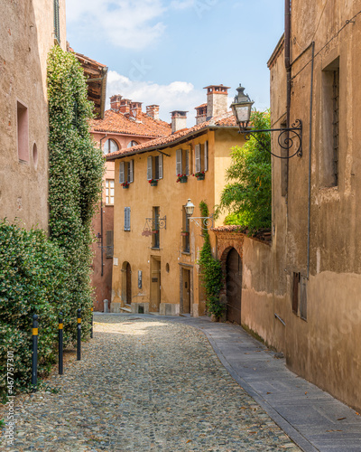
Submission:
POLYGON ((234 248, 226 261, 227 320, 241 325, 242 259, 234 248))

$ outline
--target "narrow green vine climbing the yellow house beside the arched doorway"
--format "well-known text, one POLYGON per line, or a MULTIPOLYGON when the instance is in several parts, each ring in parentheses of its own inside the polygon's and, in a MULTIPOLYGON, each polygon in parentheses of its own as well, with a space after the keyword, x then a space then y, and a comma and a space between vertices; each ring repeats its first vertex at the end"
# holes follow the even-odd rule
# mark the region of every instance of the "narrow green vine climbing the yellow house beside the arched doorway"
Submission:
MULTIPOLYGON (((202 217, 209 216, 206 202, 201 201, 199 209, 202 217)), ((203 237, 204 244, 200 250, 198 264, 202 273, 202 283, 206 289, 206 306, 208 312, 219 318, 225 309, 225 306, 219 300, 219 293, 223 287, 222 266, 220 260, 212 256, 208 230, 203 232, 203 237)))

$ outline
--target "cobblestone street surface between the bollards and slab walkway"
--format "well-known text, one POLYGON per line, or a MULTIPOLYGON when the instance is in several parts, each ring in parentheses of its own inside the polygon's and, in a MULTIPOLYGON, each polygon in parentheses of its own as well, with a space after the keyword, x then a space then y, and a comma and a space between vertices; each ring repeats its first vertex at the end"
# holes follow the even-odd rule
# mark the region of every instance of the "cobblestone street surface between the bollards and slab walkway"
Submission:
POLYGON ((189 325, 99 315, 82 361, 74 354, 47 381, 53 392, 16 398, 9 450, 301 450, 189 325))

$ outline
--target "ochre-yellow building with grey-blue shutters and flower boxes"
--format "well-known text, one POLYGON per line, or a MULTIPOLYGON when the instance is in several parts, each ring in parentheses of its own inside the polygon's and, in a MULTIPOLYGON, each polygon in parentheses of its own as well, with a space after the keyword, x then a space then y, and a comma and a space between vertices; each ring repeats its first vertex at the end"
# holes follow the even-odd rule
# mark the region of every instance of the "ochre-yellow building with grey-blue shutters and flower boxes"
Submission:
MULTIPOLYGON (((188 199, 193 202, 193 217, 201 216, 201 201, 214 212, 226 183, 230 149, 243 143, 227 113, 227 88, 217 87, 222 99, 214 97, 224 106, 223 115, 185 128, 186 112, 173 111, 170 136, 107 156, 116 163, 113 312, 205 312, 197 264, 203 224, 190 219, 184 206, 188 199)), ((219 218, 215 224, 222 222, 219 218)), ((210 239, 215 253, 212 232, 210 239)))

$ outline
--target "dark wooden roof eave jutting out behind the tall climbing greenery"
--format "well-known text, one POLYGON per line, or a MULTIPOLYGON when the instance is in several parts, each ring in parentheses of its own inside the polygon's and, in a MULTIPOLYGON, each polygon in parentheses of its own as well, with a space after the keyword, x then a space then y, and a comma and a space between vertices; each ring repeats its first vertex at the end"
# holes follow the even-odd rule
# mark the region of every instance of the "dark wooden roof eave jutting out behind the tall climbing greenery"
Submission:
MULTIPOLYGON (((72 49, 70 49, 72 51, 72 49)), ((97 118, 104 118, 106 108, 107 67, 101 62, 92 60, 81 53, 76 53, 81 67, 87 76, 88 99, 94 102, 97 118)))

